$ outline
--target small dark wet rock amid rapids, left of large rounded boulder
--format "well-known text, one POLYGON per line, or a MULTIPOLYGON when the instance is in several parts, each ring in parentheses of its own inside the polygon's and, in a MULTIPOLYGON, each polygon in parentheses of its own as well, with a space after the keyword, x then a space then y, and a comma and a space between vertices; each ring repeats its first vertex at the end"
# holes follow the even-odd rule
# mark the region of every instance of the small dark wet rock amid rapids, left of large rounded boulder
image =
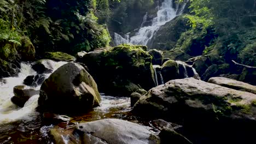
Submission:
POLYGON ((26 86, 37 87, 42 85, 46 76, 44 74, 37 74, 37 75, 29 75, 23 81, 23 84, 26 86))

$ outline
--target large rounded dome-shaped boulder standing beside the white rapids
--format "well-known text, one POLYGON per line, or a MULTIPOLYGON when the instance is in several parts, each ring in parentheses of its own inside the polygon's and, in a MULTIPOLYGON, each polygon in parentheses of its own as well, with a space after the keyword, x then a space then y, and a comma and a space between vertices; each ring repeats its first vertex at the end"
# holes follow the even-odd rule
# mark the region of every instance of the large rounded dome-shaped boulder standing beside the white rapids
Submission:
POLYGON ((69 62, 49 76, 40 88, 38 110, 56 113, 85 112, 100 105, 100 93, 82 65, 69 62))

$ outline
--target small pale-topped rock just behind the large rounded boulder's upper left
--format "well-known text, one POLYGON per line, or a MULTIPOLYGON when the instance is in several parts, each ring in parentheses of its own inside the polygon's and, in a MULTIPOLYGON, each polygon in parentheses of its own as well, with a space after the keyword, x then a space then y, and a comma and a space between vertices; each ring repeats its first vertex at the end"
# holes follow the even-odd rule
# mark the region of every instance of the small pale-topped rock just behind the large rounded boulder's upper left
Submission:
POLYGON ((41 59, 32 65, 32 69, 37 71, 38 74, 49 74, 53 72, 54 61, 50 59, 41 59))

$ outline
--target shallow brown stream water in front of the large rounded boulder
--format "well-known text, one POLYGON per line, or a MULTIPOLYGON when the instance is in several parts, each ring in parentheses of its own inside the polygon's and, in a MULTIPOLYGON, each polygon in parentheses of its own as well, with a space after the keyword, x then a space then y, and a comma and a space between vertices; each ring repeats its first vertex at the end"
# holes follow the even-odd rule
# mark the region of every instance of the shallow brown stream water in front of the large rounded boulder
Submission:
POLYGON ((118 118, 149 126, 148 121, 131 114, 130 98, 102 95, 100 107, 81 116, 71 117, 71 121, 56 123, 45 121, 41 113, 34 112, 11 123, 0 124, 0 143, 53 143, 49 135, 50 128, 59 125, 62 128, 74 124, 96 121, 104 118, 118 118))

